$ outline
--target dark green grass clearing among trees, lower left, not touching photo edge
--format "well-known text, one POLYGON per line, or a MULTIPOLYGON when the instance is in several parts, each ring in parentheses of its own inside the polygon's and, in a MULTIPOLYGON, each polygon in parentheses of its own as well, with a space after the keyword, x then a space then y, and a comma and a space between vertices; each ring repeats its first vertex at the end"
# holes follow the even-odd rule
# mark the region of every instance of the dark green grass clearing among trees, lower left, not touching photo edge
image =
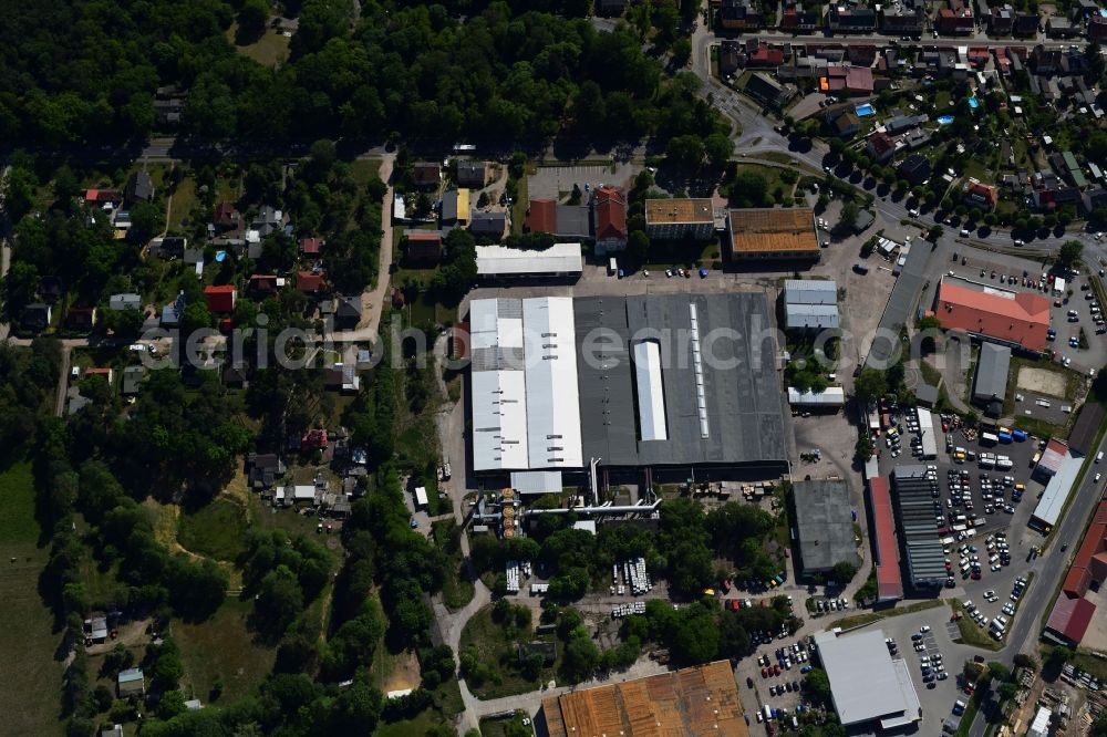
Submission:
POLYGON ((182 689, 205 704, 216 678, 224 684, 221 702, 249 694, 272 669, 276 651, 256 645, 246 626, 250 602, 228 599, 200 624, 173 623, 185 666, 182 689))

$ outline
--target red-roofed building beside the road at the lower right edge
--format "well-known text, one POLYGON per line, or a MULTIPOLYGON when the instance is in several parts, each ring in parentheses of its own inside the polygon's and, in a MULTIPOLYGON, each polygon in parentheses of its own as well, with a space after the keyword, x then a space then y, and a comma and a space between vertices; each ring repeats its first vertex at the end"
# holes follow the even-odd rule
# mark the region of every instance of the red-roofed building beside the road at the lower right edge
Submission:
POLYGON ((1069 645, 1078 645, 1096 613, 1096 605, 1084 598, 1093 582, 1107 580, 1107 501, 1100 501, 1073 559, 1061 595, 1049 613, 1046 634, 1069 645))

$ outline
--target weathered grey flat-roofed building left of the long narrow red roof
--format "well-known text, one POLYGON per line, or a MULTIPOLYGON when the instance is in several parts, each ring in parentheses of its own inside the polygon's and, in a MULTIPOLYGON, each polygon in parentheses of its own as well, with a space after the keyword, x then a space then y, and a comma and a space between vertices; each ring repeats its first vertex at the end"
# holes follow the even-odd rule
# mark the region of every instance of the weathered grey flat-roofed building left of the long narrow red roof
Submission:
POLYGON ((796 481, 793 492, 804 571, 826 571, 842 561, 857 565, 849 485, 840 479, 796 481))

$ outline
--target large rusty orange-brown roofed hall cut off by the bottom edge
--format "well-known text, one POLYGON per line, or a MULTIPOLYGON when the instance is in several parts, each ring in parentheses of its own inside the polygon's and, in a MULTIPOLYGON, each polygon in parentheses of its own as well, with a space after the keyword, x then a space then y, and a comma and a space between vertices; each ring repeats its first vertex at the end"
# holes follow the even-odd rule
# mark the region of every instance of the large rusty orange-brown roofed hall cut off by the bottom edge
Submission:
POLYGON ((549 737, 749 735, 728 661, 549 696, 536 723, 549 737))

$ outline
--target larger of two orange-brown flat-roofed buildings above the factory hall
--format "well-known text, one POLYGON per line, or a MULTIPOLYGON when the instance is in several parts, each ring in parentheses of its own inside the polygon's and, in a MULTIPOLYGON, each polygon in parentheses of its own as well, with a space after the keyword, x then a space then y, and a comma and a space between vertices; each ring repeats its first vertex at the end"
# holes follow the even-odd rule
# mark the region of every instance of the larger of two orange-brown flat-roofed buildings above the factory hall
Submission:
POLYGON ((731 210, 726 253, 733 261, 818 261, 815 210, 803 207, 731 210))

